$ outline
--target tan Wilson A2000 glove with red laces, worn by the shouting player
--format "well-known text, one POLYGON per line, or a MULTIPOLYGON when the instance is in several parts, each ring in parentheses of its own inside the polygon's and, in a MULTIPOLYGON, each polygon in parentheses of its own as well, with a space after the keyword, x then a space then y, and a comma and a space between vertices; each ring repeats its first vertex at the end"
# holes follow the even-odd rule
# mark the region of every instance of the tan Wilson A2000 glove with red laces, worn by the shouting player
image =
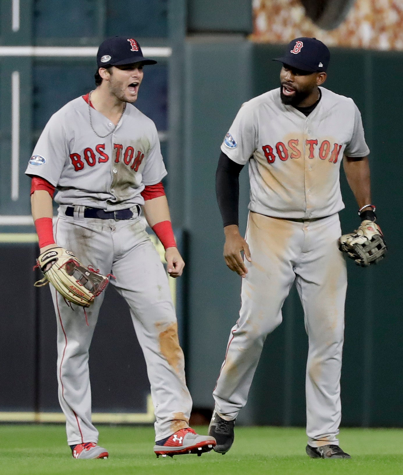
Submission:
POLYGON ((37 266, 44 277, 35 282, 36 287, 50 282, 66 300, 81 307, 89 307, 109 282, 108 276, 83 266, 72 252, 63 247, 43 252, 37 259, 37 266))

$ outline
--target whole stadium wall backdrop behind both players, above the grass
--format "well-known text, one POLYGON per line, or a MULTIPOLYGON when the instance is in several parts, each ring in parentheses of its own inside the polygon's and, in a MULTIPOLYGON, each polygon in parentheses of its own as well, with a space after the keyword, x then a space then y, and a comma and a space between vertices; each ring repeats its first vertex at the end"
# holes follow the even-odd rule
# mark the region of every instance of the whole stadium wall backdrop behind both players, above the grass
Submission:
MULTIPOLYGON (((214 190, 219 146, 240 104, 278 86, 279 66, 270 59, 282 51, 281 43, 309 35, 331 46, 326 86, 353 97, 362 112, 374 203, 389 246, 380 266, 348 263, 342 425, 403 426, 403 5, 344 3, 351 7, 346 21, 328 32, 304 16, 297 0, 1 1, 0 420, 63 420, 53 308, 48 290, 32 285, 37 244, 24 170, 48 117, 94 88, 96 48, 113 35, 137 38, 143 52, 159 61, 145 68, 136 106, 156 122, 169 171, 166 190, 187 261, 175 289, 180 338, 198 420, 208 415, 240 301, 240 279, 222 259, 214 190)), ((341 220, 349 232, 358 221, 356 203, 341 175, 341 220)), ((246 172, 240 201, 244 229, 246 172)), ((126 304, 113 289, 107 292, 90 353, 94 421, 152 422, 145 366, 126 304)), ((283 314, 284 322, 267 338, 241 424, 305 424, 307 338, 294 291, 283 314)))

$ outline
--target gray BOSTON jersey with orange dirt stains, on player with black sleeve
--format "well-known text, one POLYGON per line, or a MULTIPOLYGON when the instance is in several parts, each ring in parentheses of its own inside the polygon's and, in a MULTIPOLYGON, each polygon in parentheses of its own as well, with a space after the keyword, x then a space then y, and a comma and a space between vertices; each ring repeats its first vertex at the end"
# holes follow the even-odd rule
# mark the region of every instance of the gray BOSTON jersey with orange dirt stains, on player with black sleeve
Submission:
POLYGON ((284 105, 280 89, 243 104, 221 150, 236 163, 249 161, 250 205, 278 218, 321 218, 344 208, 339 184, 343 154, 365 157, 361 114, 348 97, 320 88, 306 117, 284 105))

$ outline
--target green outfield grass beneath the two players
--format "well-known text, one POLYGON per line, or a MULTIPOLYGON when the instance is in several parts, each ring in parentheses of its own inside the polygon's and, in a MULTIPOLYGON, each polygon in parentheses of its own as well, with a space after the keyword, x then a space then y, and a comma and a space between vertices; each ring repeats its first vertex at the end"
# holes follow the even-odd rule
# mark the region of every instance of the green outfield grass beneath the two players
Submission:
MULTIPOLYGON (((108 460, 74 460, 63 426, 0 426, 1 475, 378 475, 403 474, 403 429, 343 429, 341 446, 351 460, 312 460, 300 428, 236 428, 232 449, 157 459, 153 429, 100 426, 108 460)), ((197 430, 206 434, 206 427, 197 430)))

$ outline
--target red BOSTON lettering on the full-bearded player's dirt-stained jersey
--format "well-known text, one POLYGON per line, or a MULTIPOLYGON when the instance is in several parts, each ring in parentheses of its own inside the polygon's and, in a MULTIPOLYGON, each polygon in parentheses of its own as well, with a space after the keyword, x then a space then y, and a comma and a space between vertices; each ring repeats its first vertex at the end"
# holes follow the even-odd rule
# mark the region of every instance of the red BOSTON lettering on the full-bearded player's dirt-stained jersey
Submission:
MULTIPOLYGON (((328 140, 322 141, 319 145, 318 139, 307 139, 305 145, 308 147, 308 158, 315 158, 315 152, 318 150, 321 160, 328 160, 333 163, 337 162, 341 150, 341 145, 338 143, 331 144, 328 140)), ((287 142, 287 145, 283 142, 277 142, 274 147, 263 145, 262 150, 268 163, 273 163, 276 156, 280 160, 286 161, 289 158, 300 158, 302 155, 299 139, 291 139, 287 142)))

